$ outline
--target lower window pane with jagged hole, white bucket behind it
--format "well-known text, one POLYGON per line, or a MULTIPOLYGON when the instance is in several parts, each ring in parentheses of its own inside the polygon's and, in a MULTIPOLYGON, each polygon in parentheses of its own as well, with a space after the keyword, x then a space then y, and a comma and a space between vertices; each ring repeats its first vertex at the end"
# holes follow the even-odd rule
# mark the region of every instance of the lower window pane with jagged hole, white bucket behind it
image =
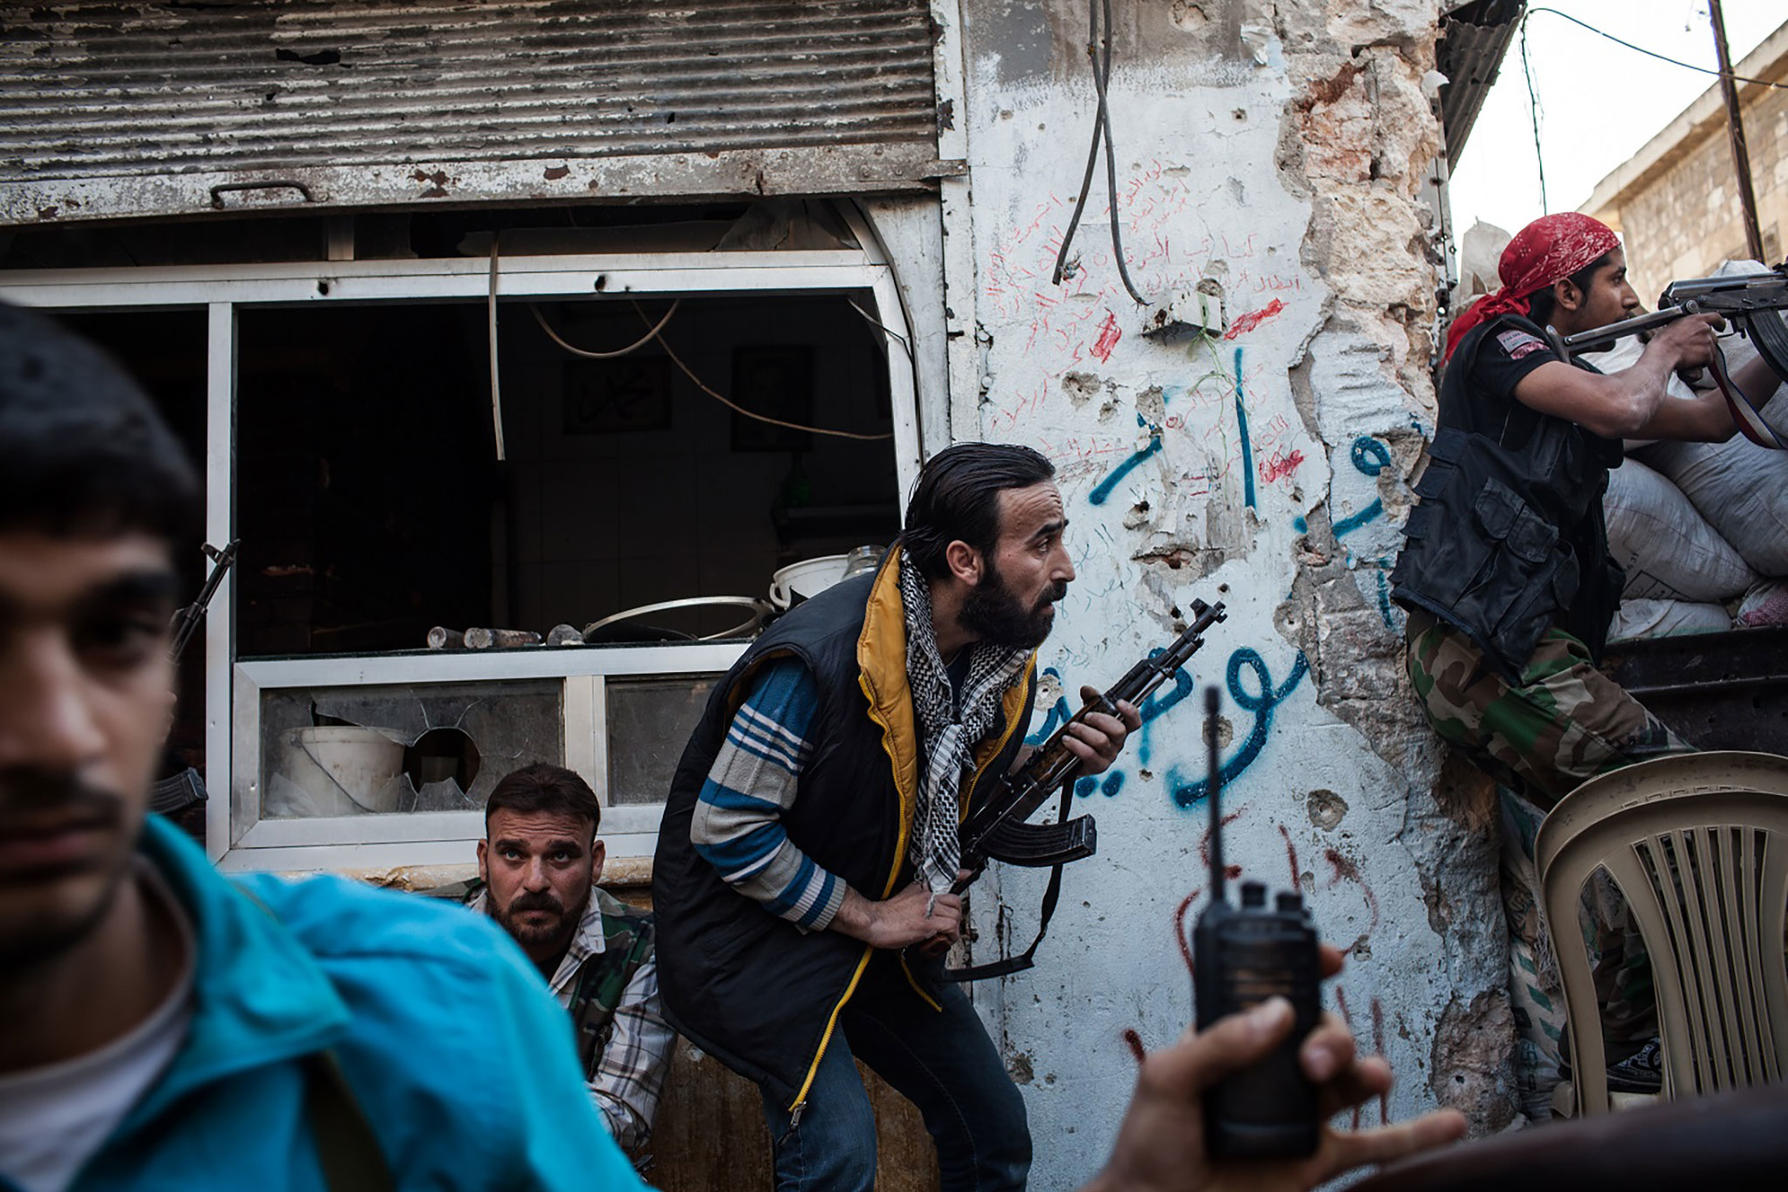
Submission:
POLYGON ((533 761, 565 760, 563 681, 261 693, 261 817, 476 811, 533 761))

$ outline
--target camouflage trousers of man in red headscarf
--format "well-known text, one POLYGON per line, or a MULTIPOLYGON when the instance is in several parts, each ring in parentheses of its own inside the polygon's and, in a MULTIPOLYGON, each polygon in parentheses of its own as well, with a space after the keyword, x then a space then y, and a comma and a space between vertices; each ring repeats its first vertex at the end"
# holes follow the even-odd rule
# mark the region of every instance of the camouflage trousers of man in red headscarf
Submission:
MULTIPOLYGON (((1504 786, 1505 831, 1516 827, 1504 849, 1504 910, 1520 986, 1514 1003, 1554 1012, 1534 1026, 1543 1028, 1545 1038, 1536 1042, 1556 1063, 1563 997, 1539 929, 1538 822, 1584 779, 1693 747, 1597 670, 1588 647, 1561 629, 1547 631, 1520 683, 1511 684, 1463 633, 1411 613, 1405 665, 1434 731, 1504 786)), ((1604 876, 1586 886, 1581 917, 1609 1042, 1656 1035, 1650 961, 1604 876)))

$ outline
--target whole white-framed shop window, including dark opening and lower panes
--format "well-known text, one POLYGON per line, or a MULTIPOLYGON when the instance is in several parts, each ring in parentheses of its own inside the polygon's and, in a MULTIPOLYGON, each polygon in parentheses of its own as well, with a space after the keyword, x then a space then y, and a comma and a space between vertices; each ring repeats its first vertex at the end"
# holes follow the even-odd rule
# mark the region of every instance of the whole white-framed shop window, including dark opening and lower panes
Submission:
POLYGON ((649 854, 767 597, 898 531, 921 348, 860 218, 520 218, 411 220, 408 254, 367 259, 0 272, 145 381, 206 536, 240 540, 168 758, 202 774, 190 827, 225 869, 463 865, 490 788, 540 760, 597 790, 611 856, 649 854))

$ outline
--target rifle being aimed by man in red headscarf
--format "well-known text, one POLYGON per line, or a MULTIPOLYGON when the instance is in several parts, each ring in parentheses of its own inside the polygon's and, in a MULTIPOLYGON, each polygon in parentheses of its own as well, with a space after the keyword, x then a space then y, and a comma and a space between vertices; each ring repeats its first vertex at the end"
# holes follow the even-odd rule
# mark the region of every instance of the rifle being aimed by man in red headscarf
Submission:
MULTIPOLYGON (((1570 336, 1559 336, 1550 327, 1547 332, 1552 338, 1552 347, 1564 359, 1572 359, 1582 352, 1600 350, 1624 336, 1656 331, 1684 315, 1718 315, 1733 323, 1740 334, 1749 336, 1763 363, 1777 377, 1788 381, 1788 327, 1783 327, 1783 311, 1788 311, 1788 261, 1763 273, 1690 277, 1670 282, 1663 297, 1657 298, 1657 309, 1650 315, 1624 318, 1618 323, 1591 327, 1570 336)), ((1770 425, 1758 406, 1733 384, 1733 377, 1725 372, 1725 354, 1718 345, 1713 350, 1713 379, 1745 438, 1758 447, 1788 449, 1788 429, 1770 425)))

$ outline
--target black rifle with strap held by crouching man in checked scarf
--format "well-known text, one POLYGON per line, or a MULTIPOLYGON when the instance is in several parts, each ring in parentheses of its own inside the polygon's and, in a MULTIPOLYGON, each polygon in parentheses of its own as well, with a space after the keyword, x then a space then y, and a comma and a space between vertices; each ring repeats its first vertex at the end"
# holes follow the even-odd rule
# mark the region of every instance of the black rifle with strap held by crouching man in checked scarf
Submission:
POLYGON ((1151 652, 1148 658, 1130 667, 1118 683, 1103 695, 1076 711, 1066 724, 1050 735, 1037 751, 999 781, 999 786, 982 802, 960 829, 962 869, 967 877, 960 877, 949 890, 962 894, 980 877, 989 860, 1007 865, 1025 865, 1032 869, 1051 867, 1050 886, 1042 895, 1042 922, 1037 938, 1019 956, 1010 956, 987 965, 946 970, 951 981, 980 981, 982 978, 1005 976, 1021 969, 1030 969, 1037 945, 1042 944, 1050 929, 1050 915, 1055 911, 1055 899, 1060 892, 1062 867, 1069 861, 1089 858, 1098 851, 1098 831, 1091 815, 1067 818, 1067 799, 1080 777, 1080 758, 1067 749, 1067 729, 1092 711, 1118 715, 1118 702, 1141 704, 1162 683, 1171 679, 1180 667, 1205 643, 1205 631, 1219 620, 1228 620, 1223 602, 1205 604, 1193 600, 1193 622, 1177 636, 1168 649, 1151 652), (1053 824, 1026 824, 1025 820, 1048 802, 1050 795, 1062 792, 1062 810, 1053 824))

